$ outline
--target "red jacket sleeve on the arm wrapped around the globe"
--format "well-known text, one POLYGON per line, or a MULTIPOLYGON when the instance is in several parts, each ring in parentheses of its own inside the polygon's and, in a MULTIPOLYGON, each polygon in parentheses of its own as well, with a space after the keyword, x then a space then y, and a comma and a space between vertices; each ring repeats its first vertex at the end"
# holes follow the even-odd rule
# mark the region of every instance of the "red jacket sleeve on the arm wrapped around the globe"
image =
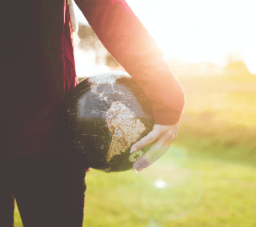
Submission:
POLYGON ((110 54, 153 101, 155 123, 179 122, 183 87, 154 39, 124 0, 75 0, 110 54))

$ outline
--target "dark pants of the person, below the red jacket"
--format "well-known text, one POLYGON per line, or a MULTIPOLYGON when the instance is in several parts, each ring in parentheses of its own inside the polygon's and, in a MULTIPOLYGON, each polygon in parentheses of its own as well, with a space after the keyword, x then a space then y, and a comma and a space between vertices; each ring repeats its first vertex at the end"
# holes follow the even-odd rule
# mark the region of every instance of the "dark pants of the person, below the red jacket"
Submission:
POLYGON ((82 159, 59 154, 1 158, 0 226, 13 226, 13 198, 24 227, 82 227, 82 159))

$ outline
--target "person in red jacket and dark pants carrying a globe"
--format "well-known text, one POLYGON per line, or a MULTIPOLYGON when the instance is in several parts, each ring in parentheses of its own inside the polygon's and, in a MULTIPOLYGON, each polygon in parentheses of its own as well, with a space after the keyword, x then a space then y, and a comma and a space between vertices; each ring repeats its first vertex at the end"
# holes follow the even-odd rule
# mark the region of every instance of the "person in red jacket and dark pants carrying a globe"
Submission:
MULTIPOLYGON (((176 138, 183 87, 125 0, 75 0, 110 54, 153 102, 153 130, 134 163, 158 159, 176 138)), ((0 226, 13 226, 14 198, 24 227, 81 227, 85 172, 58 136, 65 94, 78 84, 66 0, 2 2, 0 226)))

